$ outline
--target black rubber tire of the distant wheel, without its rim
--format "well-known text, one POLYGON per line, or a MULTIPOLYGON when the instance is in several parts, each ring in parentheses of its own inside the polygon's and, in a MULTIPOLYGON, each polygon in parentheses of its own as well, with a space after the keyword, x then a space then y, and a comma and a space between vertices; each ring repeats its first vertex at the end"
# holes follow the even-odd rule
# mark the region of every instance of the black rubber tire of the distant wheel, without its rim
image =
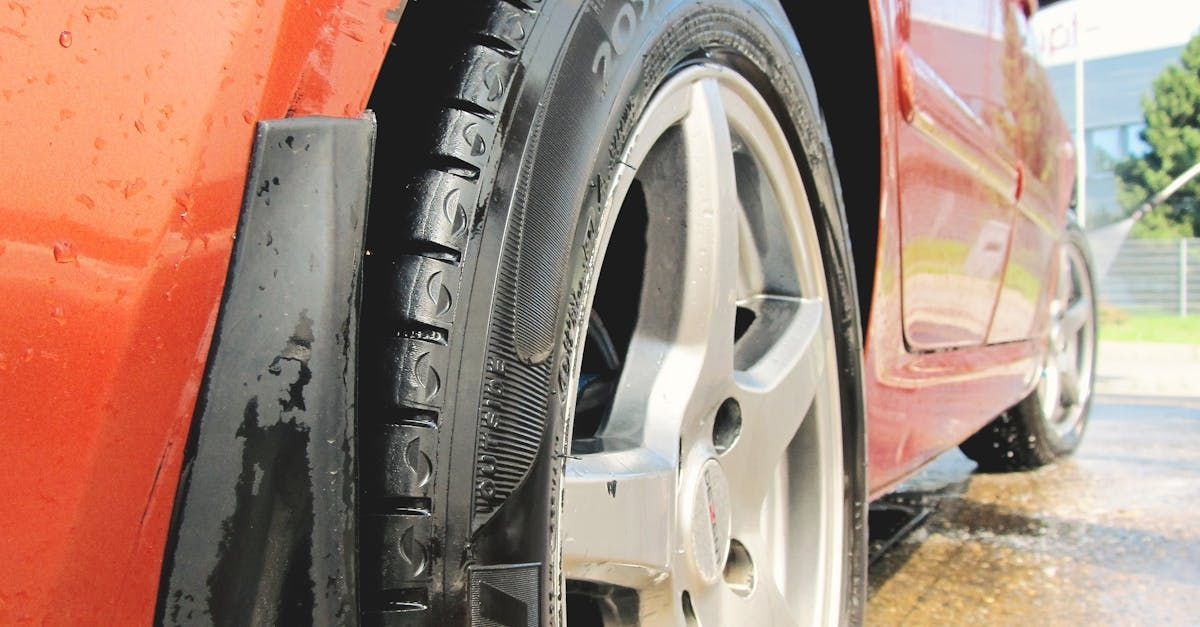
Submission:
MULTIPOLYGON (((1066 246, 1075 246, 1085 261, 1086 280, 1092 288, 1092 303, 1096 303, 1096 280, 1092 276, 1092 256, 1087 237, 1072 221, 1067 227, 1066 246)), ((1092 307, 1092 346, 1096 346, 1097 309, 1092 307)), ((1084 384, 1088 390, 1094 384, 1096 356, 1092 351, 1092 377, 1084 384)), ((1050 425, 1045 416, 1037 389, 1030 392, 1020 402, 1009 407, 980 429, 977 434, 959 444, 962 453, 979 465, 980 472, 1016 472, 1039 468, 1058 459, 1070 455, 1079 448, 1087 429, 1087 417, 1091 412, 1092 394, 1084 401, 1079 424, 1064 435, 1060 435, 1050 425)))

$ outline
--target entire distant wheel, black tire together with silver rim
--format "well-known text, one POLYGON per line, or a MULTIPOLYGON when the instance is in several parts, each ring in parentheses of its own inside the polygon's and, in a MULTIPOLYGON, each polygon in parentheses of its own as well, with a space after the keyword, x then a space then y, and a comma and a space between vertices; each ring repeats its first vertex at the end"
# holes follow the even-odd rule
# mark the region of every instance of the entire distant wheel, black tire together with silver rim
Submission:
POLYGON ((1061 251, 1036 387, 960 446, 980 471, 1045 466, 1072 454, 1087 428, 1096 382, 1097 292, 1087 237, 1074 222, 1061 251))

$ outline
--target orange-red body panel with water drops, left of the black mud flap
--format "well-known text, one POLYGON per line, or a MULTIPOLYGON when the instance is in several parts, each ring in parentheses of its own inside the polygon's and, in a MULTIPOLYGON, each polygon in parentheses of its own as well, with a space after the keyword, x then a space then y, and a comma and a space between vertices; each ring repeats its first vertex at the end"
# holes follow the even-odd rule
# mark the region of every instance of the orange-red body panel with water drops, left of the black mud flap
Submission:
POLYGON ((0 622, 149 622, 259 119, 358 115, 402 0, 0 6, 0 622))

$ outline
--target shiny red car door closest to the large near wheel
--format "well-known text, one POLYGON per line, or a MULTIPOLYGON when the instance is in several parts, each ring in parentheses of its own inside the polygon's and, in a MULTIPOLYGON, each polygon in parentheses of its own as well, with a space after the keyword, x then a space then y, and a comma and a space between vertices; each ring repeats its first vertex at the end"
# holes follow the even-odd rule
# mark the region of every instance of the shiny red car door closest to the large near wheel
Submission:
POLYGON ((896 149, 911 350, 988 339, 1019 184, 1002 133, 1006 1, 900 0, 896 149))

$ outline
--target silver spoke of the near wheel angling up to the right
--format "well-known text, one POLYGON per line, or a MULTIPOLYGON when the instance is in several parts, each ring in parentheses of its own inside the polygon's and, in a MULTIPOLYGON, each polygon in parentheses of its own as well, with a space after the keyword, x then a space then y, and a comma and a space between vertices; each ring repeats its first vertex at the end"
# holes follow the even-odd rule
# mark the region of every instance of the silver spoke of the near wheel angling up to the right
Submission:
POLYGON ((826 304, 800 299, 786 330, 749 370, 734 374, 742 405, 740 441, 721 464, 733 485, 748 492, 757 512, 762 480, 779 465, 826 378, 826 304))

